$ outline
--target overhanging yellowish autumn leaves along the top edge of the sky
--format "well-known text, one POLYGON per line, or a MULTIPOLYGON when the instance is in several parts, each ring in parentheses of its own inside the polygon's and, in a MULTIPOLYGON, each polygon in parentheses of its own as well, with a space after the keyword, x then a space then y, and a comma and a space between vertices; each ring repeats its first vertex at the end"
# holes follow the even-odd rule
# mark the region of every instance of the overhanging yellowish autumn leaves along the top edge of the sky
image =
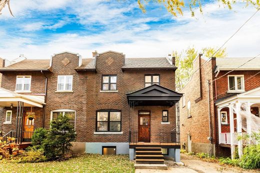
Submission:
MULTIPOLYGON (((137 0, 137 3, 139 5, 139 8, 142 10, 142 12, 146 12, 145 4, 148 3, 158 3, 162 4, 169 13, 171 13, 174 16, 177 16, 177 13, 182 15, 182 8, 184 6, 188 6, 191 12, 191 16, 194 16, 195 13, 193 11, 193 8, 198 6, 200 13, 202 13, 202 5, 201 0, 137 0)), ((236 0, 218 0, 218 2, 222 3, 224 6, 227 6, 228 9, 232 9, 232 5, 235 4, 236 0)), ((253 5, 256 8, 260 7, 260 1, 259 0, 240 0, 239 2, 244 2, 245 6, 248 6, 249 4, 253 5)))

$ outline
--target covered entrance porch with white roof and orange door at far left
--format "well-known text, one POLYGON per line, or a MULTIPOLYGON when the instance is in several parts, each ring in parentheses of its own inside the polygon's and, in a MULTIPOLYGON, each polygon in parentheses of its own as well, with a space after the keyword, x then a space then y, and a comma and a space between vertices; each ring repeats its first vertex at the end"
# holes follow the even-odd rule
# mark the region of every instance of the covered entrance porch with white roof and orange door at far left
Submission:
POLYGON ((44 104, 44 95, 19 94, 0 88, 3 140, 12 137, 17 144, 30 143, 35 128, 42 127, 44 104))

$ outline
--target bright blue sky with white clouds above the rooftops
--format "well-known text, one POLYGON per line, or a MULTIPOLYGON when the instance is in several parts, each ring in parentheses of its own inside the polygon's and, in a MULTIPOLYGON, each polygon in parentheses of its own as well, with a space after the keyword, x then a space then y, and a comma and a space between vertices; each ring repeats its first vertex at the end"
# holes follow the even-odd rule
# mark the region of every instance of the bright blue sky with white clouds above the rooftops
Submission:
MULTIPOLYGON (((149 4, 142 13, 136 0, 10 0, 0 15, 0 57, 9 60, 24 54, 46 59, 53 53, 114 50, 126 57, 167 56, 188 46, 221 46, 256 9, 236 4, 228 10, 216 1, 203 4, 195 17, 184 8, 174 17, 163 6, 149 4)), ((260 53, 260 12, 225 47, 228 57, 260 53)))

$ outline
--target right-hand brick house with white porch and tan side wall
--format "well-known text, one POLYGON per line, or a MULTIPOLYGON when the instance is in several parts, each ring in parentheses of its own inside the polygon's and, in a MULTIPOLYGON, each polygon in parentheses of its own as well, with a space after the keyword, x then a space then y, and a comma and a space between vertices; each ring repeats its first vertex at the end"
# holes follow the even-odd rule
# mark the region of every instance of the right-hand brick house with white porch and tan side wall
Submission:
POLYGON ((237 136, 251 133, 242 129, 239 112, 243 107, 253 114, 250 116, 259 117, 260 58, 245 63, 250 59, 207 59, 202 54, 194 59, 194 71, 203 65, 180 91, 183 93, 179 102, 181 148, 196 153, 210 151, 215 156, 232 154, 233 158, 235 146, 241 150, 242 145, 248 144, 244 138, 238 141, 237 136), (234 107, 239 110, 238 116, 234 107))

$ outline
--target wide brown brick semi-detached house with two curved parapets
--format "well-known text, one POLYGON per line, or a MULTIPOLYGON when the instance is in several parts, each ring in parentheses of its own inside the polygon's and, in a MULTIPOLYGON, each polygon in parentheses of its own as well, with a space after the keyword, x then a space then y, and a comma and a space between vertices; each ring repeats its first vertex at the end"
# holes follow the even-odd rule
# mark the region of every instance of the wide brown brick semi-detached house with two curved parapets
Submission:
POLYGON ((86 59, 61 52, 3 67, 0 130, 22 144, 36 128, 49 128, 66 114, 77 134, 74 150, 133 159, 138 147, 159 147, 179 162, 175 104, 182 94, 174 91, 174 63, 114 51, 86 59))

